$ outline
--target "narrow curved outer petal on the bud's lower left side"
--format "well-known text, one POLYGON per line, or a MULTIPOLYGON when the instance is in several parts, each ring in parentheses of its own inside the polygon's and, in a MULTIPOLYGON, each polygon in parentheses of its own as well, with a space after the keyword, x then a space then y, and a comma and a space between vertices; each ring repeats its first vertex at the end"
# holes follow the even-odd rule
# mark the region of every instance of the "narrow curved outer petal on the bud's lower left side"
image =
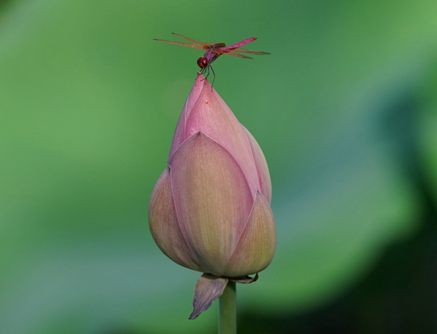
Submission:
POLYGON ((171 260, 185 267, 201 270, 178 225, 169 167, 161 174, 151 193, 149 227, 156 245, 171 260))

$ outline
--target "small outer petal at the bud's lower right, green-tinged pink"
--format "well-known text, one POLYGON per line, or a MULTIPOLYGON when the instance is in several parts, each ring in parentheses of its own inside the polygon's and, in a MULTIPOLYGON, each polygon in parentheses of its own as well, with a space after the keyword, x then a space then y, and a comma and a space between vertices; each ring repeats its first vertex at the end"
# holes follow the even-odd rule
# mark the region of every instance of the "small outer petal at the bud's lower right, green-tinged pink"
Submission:
POLYGON ((251 215, 234 253, 226 266, 226 276, 259 272, 273 259, 276 229, 273 213, 262 193, 257 192, 251 215))

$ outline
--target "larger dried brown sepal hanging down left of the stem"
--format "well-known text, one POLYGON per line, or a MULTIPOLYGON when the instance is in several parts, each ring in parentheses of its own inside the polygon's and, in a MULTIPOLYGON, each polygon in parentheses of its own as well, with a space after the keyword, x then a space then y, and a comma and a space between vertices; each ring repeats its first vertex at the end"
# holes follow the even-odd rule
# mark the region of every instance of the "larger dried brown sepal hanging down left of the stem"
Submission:
POLYGON ((193 312, 188 319, 193 320, 206 311, 222 295, 227 284, 227 277, 203 274, 194 288, 193 312))

